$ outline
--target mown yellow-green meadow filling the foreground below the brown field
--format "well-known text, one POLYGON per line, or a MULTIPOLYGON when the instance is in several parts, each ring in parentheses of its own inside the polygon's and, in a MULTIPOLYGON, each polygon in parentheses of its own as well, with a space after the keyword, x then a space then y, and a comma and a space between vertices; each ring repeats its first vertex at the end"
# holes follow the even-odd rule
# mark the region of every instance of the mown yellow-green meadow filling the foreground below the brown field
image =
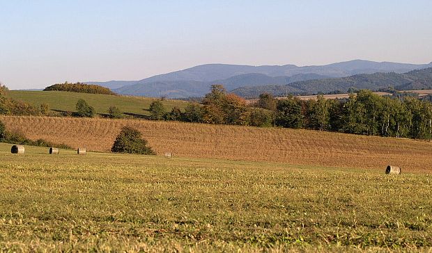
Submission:
POLYGON ((0 252, 431 250, 432 177, 0 143, 0 252))

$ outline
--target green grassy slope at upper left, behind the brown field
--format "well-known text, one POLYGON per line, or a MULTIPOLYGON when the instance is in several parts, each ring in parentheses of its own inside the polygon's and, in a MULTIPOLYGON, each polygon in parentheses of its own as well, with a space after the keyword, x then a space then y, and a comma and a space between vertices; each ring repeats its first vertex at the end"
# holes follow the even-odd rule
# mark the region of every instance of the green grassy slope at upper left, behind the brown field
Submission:
MULTIPOLYGON (((127 96, 112 96, 101 94, 87 94, 76 92, 60 92, 60 91, 23 91, 10 90, 8 96, 13 99, 25 101, 34 106, 39 106, 42 103, 49 104, 49 108, 58 111, 75 112, 75 104, 78 99, 84 99, 93 106, 96 113, 106 114, 109 106, 117 106, 121 108, 123 113, 132 113, 134 115, 150 115, 148 108, 155 99, 146 97, 127 97, 127 96)), ((171 111, 173 106, 184 108, 185 101, 165 100, 162 101, 167 111, 171 111)))

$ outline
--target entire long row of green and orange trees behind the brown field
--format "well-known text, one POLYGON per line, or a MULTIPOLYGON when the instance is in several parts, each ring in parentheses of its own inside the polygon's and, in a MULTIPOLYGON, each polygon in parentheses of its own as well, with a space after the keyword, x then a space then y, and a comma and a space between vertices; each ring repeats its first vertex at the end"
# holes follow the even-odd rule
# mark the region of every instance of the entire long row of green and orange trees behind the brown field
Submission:
POLYGON ((289 96, 275 99, 263 93, 254 104, 213 85, 202 104, 190 103, 185 111, 164 111, 162 102, 151 104, 152 120, 180 120, 208 124, 280 126, 397 138, 432 138, 432 103, 416 97, 381 97, 370 90, 348 99, 303 101, 289 96))

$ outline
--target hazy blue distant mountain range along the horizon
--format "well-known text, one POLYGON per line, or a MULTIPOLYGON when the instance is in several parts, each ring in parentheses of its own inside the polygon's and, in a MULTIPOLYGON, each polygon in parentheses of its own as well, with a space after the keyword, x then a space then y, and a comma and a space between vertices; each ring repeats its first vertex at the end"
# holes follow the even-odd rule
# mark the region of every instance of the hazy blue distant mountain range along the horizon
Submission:
MULTIPOLYGON (((411 70, 432 67, 432 63, 424 65, 406 63, 376 63, 369 60, 350 60, 343 63, 332 63, 322 66, 298 67, 283 66, 248 66, 208 64, 191 67, 186 70, 160 74, 139 81, 107 81, 86 83, 98 84, 111 88, 123 95, 137 95, 146 97, 201 97, 209 92, 210 85, 222 84, 226 90, 234 90, 239 95, 256 94, 252 90, 259 90, 259 86, 267 86, 276 92, 278 88, 289 92, 313 92, 321 90, 323 85, 317 80, 352 76, 355 74, 372 74, 376 72, 404 73, 411 70), (287 84, 311 81, 316 88, 303 89, 302 86, 287 84), (271 86, 270 86, 271 85, 271 86), (239 89, 240 88, 240 89, 239 89), (246 91, 248 90, 249 91, 246 91)), ((334 87, 339 87, 335 85, 334 87)), ((332 88, 325 88, 331 91, 332 88)), ((261 89, 262 90, 262 89, 261 89)), ((337 90, 337 89, 335 89, 337 90)))

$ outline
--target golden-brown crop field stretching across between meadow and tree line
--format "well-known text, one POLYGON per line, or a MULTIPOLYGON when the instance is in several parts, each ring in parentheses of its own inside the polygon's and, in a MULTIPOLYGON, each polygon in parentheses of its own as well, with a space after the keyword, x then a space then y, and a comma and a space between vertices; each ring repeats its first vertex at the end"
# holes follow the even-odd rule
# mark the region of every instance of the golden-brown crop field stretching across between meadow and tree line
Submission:
POLYGON ((109 151, 122 126, 139 129, 157 154, 275 161, 341 168, 375 168, 388 164, 403 171, 431 172, 432 143, 279 128, 107 120, 66 117, 0 117, 10 131, 72 147, 109 151))

